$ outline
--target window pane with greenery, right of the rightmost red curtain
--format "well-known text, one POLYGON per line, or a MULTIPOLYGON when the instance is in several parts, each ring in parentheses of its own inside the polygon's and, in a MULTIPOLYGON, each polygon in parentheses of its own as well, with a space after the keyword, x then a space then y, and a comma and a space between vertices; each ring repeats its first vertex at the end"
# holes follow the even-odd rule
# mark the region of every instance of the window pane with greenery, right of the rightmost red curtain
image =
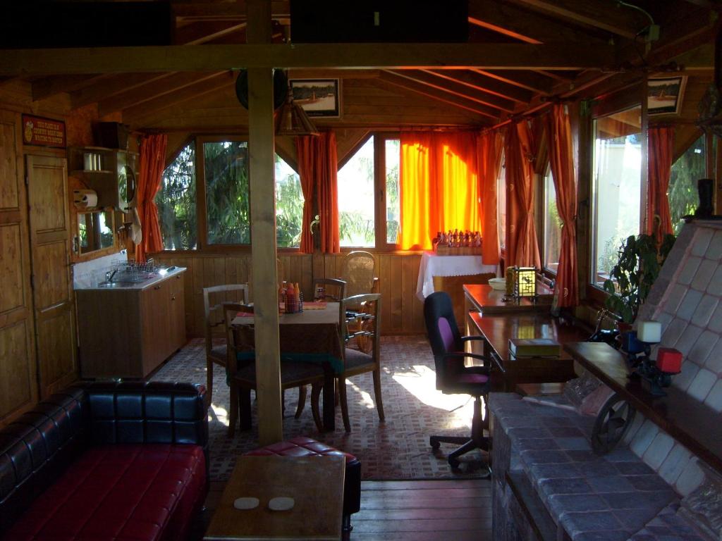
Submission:
POLYGON ((702 136, 672 164, 667 197, 675 235, 684 224, 682 216, 694 214, 697 209, 697 180, 706 176, 705 150, 705 136, 702 136))

